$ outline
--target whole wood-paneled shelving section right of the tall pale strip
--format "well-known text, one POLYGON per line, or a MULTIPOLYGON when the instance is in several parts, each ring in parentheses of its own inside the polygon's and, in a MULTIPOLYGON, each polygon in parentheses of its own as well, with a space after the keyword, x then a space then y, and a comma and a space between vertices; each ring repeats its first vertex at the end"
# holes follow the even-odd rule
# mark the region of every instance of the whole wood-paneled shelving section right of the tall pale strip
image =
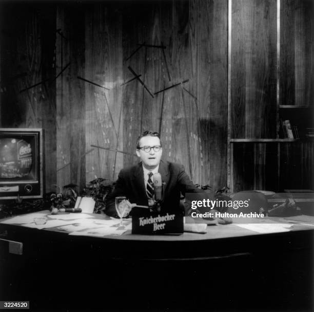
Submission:
MULTIPOLYGON (((266 3, 259 5, 261 12, 269 9, 266 3)), ((245 22, 238 3, 229 1, 232 14, 229 14, 228 49, 228 187, 231 192, 314 188, 311 137, 314 47, 310 3, 277 0, 271 6, 268 12, 273 14, 267 15, 267 25, 263 25, 260 33, 253 22, 262 19, 259 13, 252 11, 254 16, 245 22), (246 27, 250 35, 254 34, 249 39, 244 38, 245 34, 241 37, 246 27), (254 63, 256 56, 259 62, 254 63), (284 133, 282 121, 285 120, 293 128, 293 138, 284 133)))

